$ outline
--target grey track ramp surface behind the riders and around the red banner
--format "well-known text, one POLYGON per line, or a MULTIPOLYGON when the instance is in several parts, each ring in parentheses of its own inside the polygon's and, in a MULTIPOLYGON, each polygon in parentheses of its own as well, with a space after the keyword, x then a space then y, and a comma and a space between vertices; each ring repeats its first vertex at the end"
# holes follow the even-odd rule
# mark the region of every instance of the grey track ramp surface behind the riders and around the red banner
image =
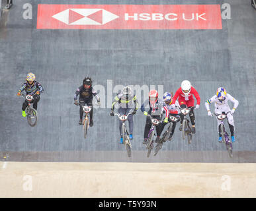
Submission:
MULTIPOLYGON (((256 13, 249 1, 141 1, 141 4, 230 3, 231 20, 222 30, 37 30, 39 3, 138 4, 138 1, 17 1, 3 11, 0 28, 0 152, 9 161, 34 162, 256 162, 256 13), (22 18, 31 3, 32 20, 22 18), (21 116, 16 96, 28 69, 45 93, 38 104, 38 124, 21 116), (146 158, 142 144, 146 122, 134 116, 133 157, 120 145, 118 120, 108 108, 95 109, 93 128, 83 138, 79 107, 73 95, 86 75, 107 90, 117 84, 163 85, 163 91, 191 80, 201 97, 196 110, 196 135, 189 145, 175 131, 157 156, 146 158), (239 100, 235 111, 234 159, 218 143, 216 120, 207 116, 205 100, 219 86, 239 100)), ((98 86, 99 87, 99 86, 98 86)), ((156 86, 157 88, 157 86, 156 86)), ((102 104, 112 101, 106 95, 102 104)), ((143 96, 143 94, 142 94, 143 96)), ((142 101, 140 102, 142 103, 142 101)), ((230 105, 232 106, 232 105, 230 105)), ((213 110, 213 106, 212 106, 213 110)))

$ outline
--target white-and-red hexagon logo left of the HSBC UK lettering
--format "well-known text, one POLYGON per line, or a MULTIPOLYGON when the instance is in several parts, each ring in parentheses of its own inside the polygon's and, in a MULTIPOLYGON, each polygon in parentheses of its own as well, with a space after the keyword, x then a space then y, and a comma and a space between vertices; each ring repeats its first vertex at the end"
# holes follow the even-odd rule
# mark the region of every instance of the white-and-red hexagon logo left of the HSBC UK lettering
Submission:
POLYGON ((66 9, 52 17, 67 25, 104 25, 119 18, 105 9, 66 9))

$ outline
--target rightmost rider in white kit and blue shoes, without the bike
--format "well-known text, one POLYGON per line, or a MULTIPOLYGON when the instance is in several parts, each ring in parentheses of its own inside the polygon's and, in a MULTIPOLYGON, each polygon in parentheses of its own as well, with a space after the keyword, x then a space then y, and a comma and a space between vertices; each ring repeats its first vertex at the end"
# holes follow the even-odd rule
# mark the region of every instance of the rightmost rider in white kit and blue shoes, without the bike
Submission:
MULTIPOLYGON (((234 131, 235 131, 235 124, 234 124, 234 119, 233 119, 233 113, 235 112, 235 109, 237 108, 239 102, 235 100, 230 94, 228 94, 225 90, 225 88, 220 87, 217 90, 216 95, 214 95, 212 98, 207 100, 205 102, 205 107, 208 111, 208 115, 211 116, 212 113, 210 111, 210 104, 215 103, 215 111, 214 113, 222 113, 225 112, 227 113, 230 111, 230 113, 227 114, 228 118, 228 125, 230 127, 230 133, 231 133, 231 138, 232 142, 235 142, 235 137, 234 137, 234 131), (228 101, 231 101, 234 104, 233 109, 230 110, 230 106, 228 106, 228 101)), ((222 136, 220 135, 220 123, 221 121, 218 120, 218 131, 219 131, 219 142, 222 142, 222 136)))

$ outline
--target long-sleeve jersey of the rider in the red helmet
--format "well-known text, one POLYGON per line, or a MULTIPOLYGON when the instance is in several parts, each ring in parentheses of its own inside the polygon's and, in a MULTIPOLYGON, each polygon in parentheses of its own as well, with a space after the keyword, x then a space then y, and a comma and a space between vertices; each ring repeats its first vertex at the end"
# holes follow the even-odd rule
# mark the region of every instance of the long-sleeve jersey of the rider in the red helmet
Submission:
POLYGON ((163 113, 163 111, 165 111, 165 117, 169 116, 169 110, 167 109, 167 106, 165 105, 165 103, 162 100, 157 100, 157 102, 155 102, 155 104, 151 104, 151 102, 149 100, 146 100, 146 102, 144 102, 144 104, 142 104, 142 106, 140 107, 140 110, 142 112, 144 112, 145 107, 148 105, 149 105, 148 113, 151 112, 152 116, 161 115, 163 113))

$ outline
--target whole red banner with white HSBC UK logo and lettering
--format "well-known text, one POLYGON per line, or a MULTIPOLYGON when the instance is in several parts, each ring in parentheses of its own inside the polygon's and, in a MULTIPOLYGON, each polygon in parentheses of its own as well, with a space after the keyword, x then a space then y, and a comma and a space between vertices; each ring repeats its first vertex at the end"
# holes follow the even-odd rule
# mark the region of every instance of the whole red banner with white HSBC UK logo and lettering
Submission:
POLYGON ((38 29, 222 29, 220 5, 38 5, 38 29))

